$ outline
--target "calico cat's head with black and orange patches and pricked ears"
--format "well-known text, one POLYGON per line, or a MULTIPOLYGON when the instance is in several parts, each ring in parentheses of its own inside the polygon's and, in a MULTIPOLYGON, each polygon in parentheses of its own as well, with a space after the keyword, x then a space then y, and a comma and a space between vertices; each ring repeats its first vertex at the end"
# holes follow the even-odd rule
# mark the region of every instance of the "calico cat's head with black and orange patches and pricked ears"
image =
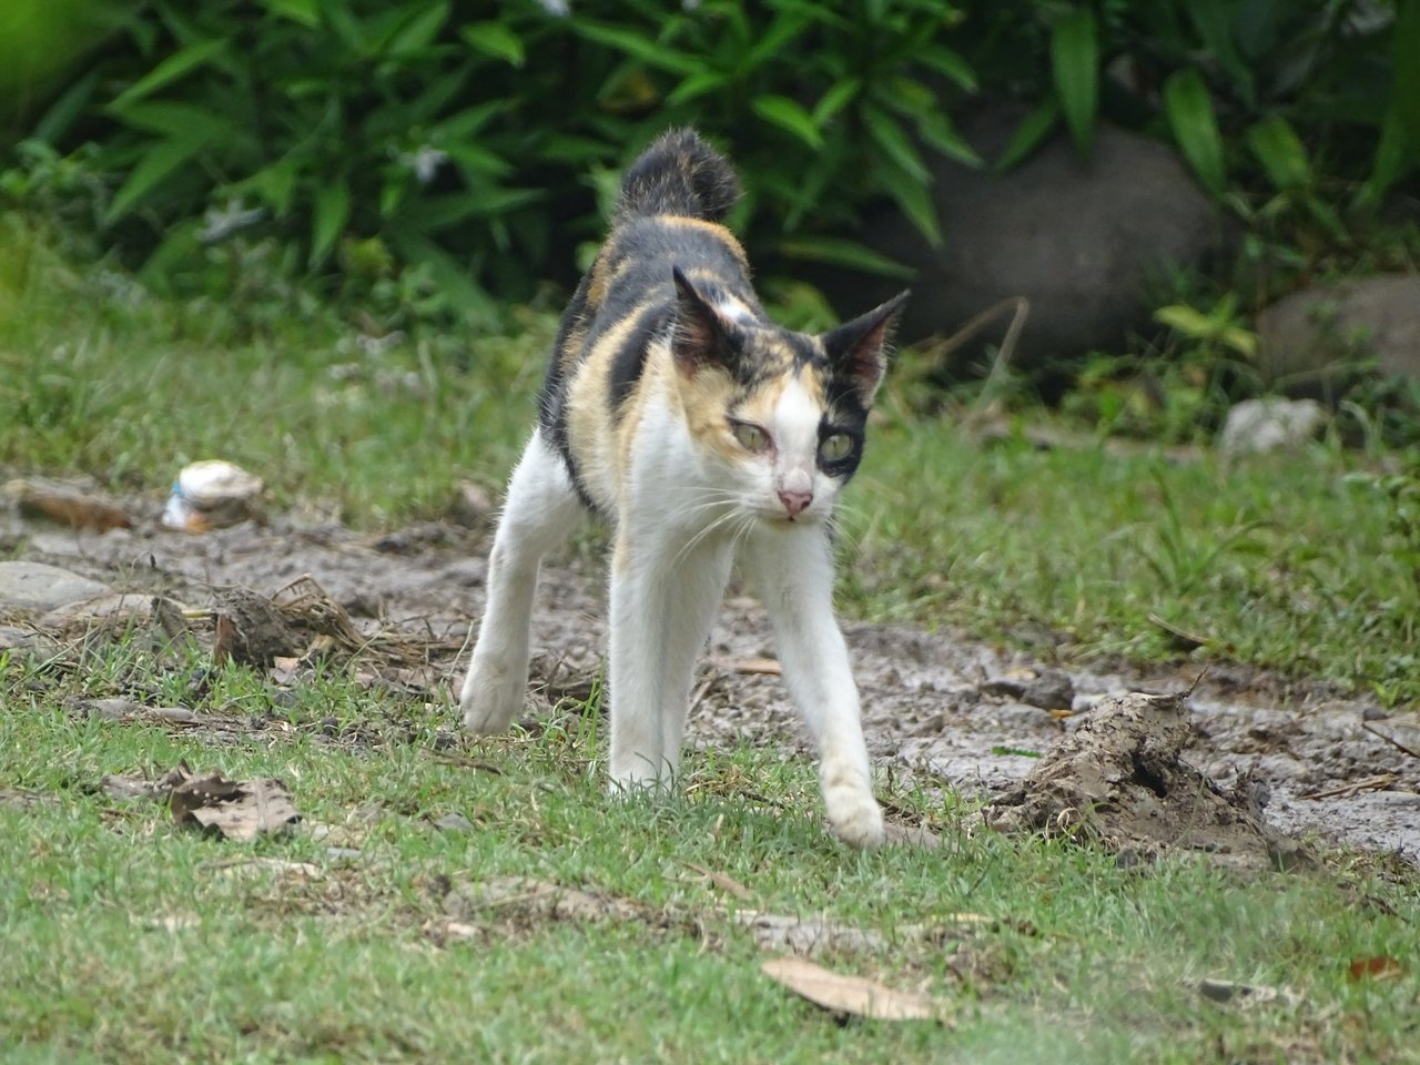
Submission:
POLYGON ((780 328, 674 271, 672 352, 686 426, 716 487, 771 523, 822 521, 863 454, 900 293, 819 337, 780 328))

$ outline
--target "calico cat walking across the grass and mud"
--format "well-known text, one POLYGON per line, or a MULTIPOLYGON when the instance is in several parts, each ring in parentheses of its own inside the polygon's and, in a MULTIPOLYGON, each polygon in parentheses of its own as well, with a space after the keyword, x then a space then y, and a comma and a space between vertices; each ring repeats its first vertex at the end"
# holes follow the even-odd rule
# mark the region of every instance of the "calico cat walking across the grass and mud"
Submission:
POLYGON ((690 129, 626 172, 508 484, 463 720, 493 733, 521 710, 538 562, 594 511, 615 527, 613 785, 673 782, 696 656, 738 557, 818 743, 829 822, 873 846, 883 821, 834 619, 829 525, 907 293, 822 337, 775 325, 720 224, 738 195, 734 169, 690 129))

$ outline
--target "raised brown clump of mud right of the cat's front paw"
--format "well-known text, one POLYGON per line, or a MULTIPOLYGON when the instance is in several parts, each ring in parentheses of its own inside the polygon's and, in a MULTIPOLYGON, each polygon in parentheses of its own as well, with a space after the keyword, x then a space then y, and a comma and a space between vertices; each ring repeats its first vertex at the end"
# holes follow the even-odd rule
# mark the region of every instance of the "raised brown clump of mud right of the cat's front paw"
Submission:
POLYGON ((1110 696, 1056 743, 987 816, 1005 832, 1088 838, 1122 862, 1200 851, 1237 869, 1312 865, 1296 842, 1262 819, 1261 797, 1224 791, 1181 758, 1193 736, 1187 693, 1110 696))

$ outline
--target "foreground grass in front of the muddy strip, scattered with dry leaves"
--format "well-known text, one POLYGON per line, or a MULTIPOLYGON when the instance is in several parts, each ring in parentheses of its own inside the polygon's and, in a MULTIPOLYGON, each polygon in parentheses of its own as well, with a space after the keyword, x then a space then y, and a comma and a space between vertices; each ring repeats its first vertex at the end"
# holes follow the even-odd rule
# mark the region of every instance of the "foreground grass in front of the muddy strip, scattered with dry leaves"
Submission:
MULTIPOLYGON (((172 667, 108 653, 109 674, 172 667)), ((1252 883, 1198 861, 1122 870, 970 831, 927 790, 890 799, 946 845, 865 855, 824 832, 812 765, 771 753, 694 754, 683 797, 622 802, 596 727, 449 753, 442 714, 332 679, 358 738, 312 713, 219 741, 85 716, 80 674, 3 676, 0 781, 34 797, 0 799, 7 1061, 1420 1059, 1420 895, 1365 865, 1252 883), (305 826, 233 845, 98 787, 183 758, 284 778, 305 826), (467 831, 436 828, 447 815, 467 831), (504 876, 606 913, 480 905, 504 876), (947 1022, 835 1022, 760 973, 782 950, 757 946, 746 909, 870 933, 819 963, 926 993, 947 1022), (1372 957, 1397 971, 1352 978, 1372 957), (1204 977, 1287 994, 1218 1005, 1204 977)), ((210 709, 273 694, 233 670, 210 709)))

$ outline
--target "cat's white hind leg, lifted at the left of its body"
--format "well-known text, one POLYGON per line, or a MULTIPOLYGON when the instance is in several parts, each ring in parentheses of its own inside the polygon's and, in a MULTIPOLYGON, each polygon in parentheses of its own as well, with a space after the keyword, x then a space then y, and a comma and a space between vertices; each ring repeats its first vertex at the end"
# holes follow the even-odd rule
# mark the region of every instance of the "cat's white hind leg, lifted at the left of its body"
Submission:
POLYGON ((541 430, 532 433, 508 481, 488 555, 488 601, 459 697, 466 728, 500 731, 523 709, 538 564, 568 537, 582 513, 562 459, 541 430))

